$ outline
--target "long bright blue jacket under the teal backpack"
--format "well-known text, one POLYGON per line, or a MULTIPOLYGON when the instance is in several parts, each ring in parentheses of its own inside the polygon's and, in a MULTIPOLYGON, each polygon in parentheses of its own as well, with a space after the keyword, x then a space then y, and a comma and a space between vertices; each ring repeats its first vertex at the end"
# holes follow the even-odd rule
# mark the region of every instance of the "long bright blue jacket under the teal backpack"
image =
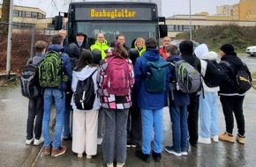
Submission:
POLYGON ((165 60, 160 56, 157 49, 147 49, 143 56, 136 59, 134 66, 135 75, 135 91, 138 95, 138 105, 142 109, 159 110, 162 109, 167 103, 168 87, 169 87, 169 69, 166 76, 166 91, 161 93, 150 93, 145 89, 144 78, 147 74, 147 60, 148 61, 163 61, 165 60), (147 59, 146 59, 147 58, 147 59))

